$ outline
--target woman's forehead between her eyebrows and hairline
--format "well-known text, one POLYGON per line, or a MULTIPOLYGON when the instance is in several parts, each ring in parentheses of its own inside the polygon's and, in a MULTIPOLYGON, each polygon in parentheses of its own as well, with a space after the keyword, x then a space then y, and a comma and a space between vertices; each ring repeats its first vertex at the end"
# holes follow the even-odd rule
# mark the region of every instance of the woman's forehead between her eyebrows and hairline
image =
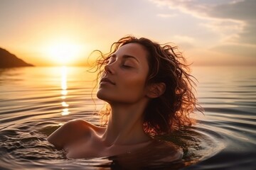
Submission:
POLYGON ((146 60, 147 51, 144 47, 138 43, 129 43, 119 47, 119 49, 114 52, 117 57, 120 55, 130 55, 136 57, 137 60, 146 60))

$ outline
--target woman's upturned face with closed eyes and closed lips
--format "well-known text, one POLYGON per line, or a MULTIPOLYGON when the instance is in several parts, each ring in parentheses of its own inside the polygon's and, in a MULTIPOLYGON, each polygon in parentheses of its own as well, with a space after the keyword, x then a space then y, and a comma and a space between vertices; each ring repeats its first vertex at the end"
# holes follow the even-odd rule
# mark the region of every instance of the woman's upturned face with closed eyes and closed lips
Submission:
POLYGON ((146 98, 149 65, 147 52, 138 43, 119 47, 105 66, 97 97, 108 103, 136 103, 146 98))

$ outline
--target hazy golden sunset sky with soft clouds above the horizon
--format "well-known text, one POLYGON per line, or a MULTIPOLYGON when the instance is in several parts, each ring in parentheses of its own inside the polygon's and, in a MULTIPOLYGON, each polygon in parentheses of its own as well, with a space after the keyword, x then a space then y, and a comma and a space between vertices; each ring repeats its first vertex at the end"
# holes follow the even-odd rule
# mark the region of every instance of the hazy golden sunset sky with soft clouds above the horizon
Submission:
POLYGON ((70 51, 73 64, 135 35, 174 42, 194 64, 256 65, 255 8, 255 0, 0 0, 0 47, 36 65, 70 51))

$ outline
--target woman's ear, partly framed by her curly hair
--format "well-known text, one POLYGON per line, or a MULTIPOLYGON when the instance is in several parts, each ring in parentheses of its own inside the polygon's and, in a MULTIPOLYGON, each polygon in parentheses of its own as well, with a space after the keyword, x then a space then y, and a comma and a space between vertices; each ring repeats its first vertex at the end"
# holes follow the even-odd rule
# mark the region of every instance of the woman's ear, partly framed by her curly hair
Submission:
POLYGON ((149 98, 158 98, 159 96, 164 94, 165 90, 166 90, 166 84, 164 83, 151 84, 148 87, 146 96, 149 98))

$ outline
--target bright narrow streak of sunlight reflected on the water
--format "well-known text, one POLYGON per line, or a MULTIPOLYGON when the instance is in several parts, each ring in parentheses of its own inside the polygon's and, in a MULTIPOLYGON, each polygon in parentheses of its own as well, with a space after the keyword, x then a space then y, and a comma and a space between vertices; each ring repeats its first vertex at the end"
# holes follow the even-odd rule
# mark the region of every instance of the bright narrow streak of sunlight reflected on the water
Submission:
POLYGON ((63 101, 61 102, 61 106, 63 106, 63 110, 61 112, 61 115, 69 115, 70 112, 68 111, 69 104, 65 102, 65 98, 68 94, 68 85, 67 85, 67 67, 63 66, 61 67, 61 99, 63 101))

